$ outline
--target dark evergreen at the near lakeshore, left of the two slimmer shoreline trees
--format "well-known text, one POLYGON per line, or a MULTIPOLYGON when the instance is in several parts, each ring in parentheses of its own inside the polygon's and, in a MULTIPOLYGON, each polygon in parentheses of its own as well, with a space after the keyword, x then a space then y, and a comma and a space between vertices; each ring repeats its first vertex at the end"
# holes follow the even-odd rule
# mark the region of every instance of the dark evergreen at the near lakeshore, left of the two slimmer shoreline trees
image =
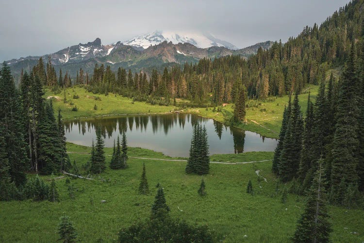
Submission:
POLYGON ((102 139, 101 128, 99 126, 96 129, 96 145, 91 161, 90 171, 92 173, 99 174, 105 170, 104 140, 102 139))

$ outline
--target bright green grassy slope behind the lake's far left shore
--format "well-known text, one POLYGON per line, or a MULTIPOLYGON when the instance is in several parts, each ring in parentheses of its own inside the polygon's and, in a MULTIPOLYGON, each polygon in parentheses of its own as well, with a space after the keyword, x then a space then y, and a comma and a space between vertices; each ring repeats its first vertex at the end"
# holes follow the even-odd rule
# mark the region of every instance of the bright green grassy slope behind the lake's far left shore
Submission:
POLYGON ((174 106, 161 106, 151 105, 145 102, 132 102, 132 99, 109 93, 105 96, 103 94, 93 94, 87 92, 84 87, 71 87, 66 89, 66 100, 64 103, 64 92, 54 94, 49 88, 45 88, 44 97, 58 97, 53 99, 53 106, 55 113, 58 113, 58 107, 62 110, 62 117, 64 120, 89 118, 96 116, 106 115, 121 115, 121 114, 154 114, 165 113, 174 109, 174 106), (73 95, 78 95, 78 99, 73 99, 73 95), (100 100, 95 99, 99 97, 100 100), (73 103, 73 104, 70 104, 73 103), (97 105, 97 110, 94 105, 97 105), (78 111, 72 111, 74 106, 77 106, 78 111))

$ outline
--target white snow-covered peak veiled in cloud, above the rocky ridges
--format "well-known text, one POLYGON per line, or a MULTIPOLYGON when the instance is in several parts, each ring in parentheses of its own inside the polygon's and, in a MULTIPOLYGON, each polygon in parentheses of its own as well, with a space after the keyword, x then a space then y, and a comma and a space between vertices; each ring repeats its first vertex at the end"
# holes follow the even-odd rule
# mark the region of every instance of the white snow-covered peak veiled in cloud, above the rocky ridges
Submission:
POLYGON ((151 34, 136 36, 131 40, 123 41, 123 44, 147 49, 149 46, 155 46, 164 41, 167 42, 171 41, 173 44, 190 43, 198 48, 208 48, 212 46, 217 46, 217 47, 225 47, 231 50, 238 49, 233 44, 224 40, 217 39, 210 34, 175 33, 167 31, 155 31, 151 34))

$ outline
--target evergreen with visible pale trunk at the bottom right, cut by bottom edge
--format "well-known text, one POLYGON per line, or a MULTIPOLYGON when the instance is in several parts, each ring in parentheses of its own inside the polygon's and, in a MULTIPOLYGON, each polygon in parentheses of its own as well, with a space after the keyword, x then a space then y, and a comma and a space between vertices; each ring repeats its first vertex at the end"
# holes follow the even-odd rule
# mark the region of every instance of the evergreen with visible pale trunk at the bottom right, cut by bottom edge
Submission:
POLYGON ((293 242, 329 242, 331 224, 326 208, 326 181, 323 171, 323 159, 318 161, 318 170, 308 191, 306 208, 298 220, 293 242))

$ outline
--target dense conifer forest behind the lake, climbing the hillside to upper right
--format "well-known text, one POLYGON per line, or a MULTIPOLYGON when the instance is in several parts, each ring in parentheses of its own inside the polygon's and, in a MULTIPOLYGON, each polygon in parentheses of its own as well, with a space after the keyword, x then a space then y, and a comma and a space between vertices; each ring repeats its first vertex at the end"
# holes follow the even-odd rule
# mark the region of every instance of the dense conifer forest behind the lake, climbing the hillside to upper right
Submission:
MULTIPOLYGON (((275 42, 268 50, 259 48, 248 59, 238 55, 203 58, 183 68, 163 72, 147 68, 137 73, 123 68, 113 72, 109 66, 95 64, 92 74, 83 69, 76 77, 62 73, 58 85, 86 84, 95 93, 116 92, 143 101, 152 95, 213 105, 234 103, 242 85, 249 98, 263 100, 269 95, 300 93, 306 84, 320 84, 327 70, 342 66, 352 43, 362 52, 362 12, 363 1, 352 1, 320 26, 306 26, 297 37, 284 44, 275 42)), ((45 85, 52 83, 48 79, 44 76, 45 85)))

